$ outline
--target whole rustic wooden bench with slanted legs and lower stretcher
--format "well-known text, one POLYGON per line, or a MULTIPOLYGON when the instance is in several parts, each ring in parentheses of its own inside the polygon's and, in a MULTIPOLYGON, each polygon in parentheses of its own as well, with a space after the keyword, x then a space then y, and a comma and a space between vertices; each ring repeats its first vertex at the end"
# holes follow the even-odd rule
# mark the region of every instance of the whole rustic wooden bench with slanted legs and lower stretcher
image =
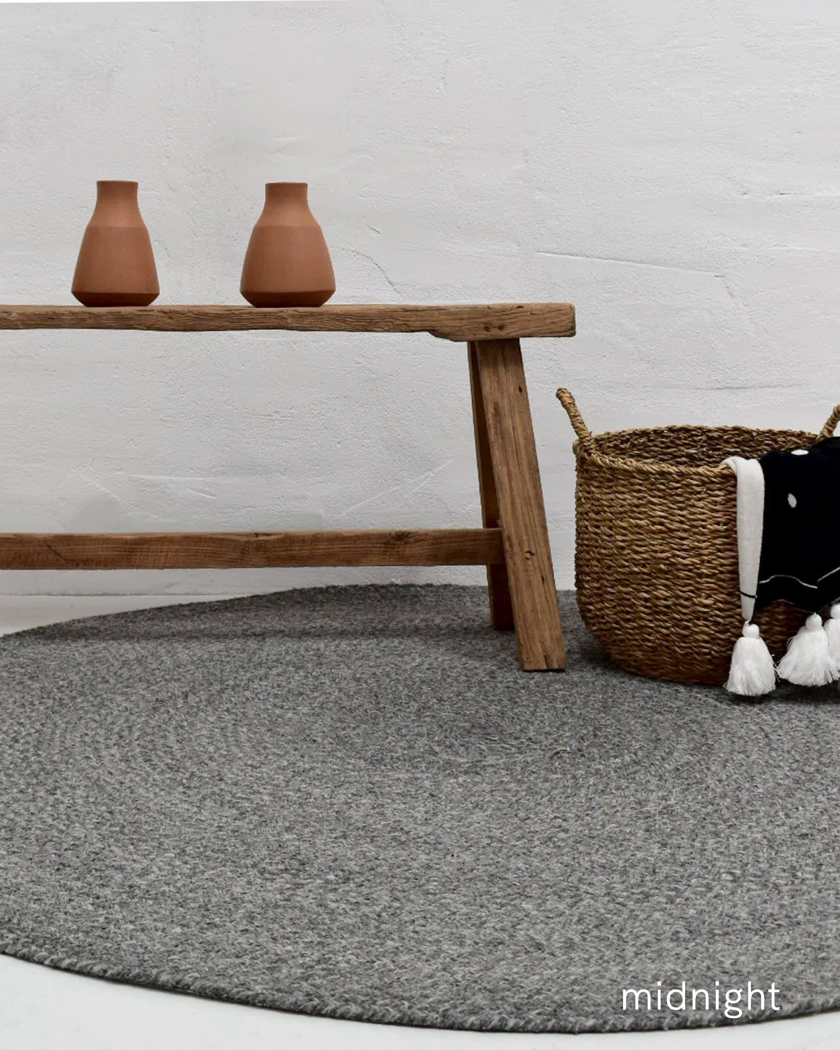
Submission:
POLYGON ((568 302, 470 306, 0 307, 0 329, 428 332, 466 342, 482 528, 281 532, 6 532, 0 569, 486 565, 490 622, 522 668, 564 667, 551 551, 520 339, 574 335, 568 302))

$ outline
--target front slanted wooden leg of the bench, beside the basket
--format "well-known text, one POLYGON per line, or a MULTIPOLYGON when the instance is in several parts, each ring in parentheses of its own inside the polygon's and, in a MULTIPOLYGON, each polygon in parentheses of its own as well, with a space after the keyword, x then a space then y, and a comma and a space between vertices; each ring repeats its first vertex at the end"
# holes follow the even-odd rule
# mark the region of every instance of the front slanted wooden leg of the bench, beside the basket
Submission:
MULTIPOLYGON (((488 505, 502 529, 520 665, 524 671, 559 671, 566 655, 519 339, 481 340, 470 344, 469 353, 497 502, 494 508, 490 498, 488 505)), ((481 471, 480 429, 477 422, 481 471)))

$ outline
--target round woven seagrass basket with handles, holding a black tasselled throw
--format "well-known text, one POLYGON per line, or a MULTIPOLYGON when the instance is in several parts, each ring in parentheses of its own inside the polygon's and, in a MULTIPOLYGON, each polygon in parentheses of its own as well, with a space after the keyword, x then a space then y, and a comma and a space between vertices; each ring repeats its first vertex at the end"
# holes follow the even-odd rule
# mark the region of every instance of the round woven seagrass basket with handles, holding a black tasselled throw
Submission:
MULTIPOLYGON (((581 615, 620 667, 651 678, 722 685, 740 636, 735 475, 755 458, 830 437, 747 426, 654 426, 590 434, 574 398, 558 398, 578 435, 575 586, 581 615)), ((805 613, 775 602, 756 614, 779 656, 805 613)))

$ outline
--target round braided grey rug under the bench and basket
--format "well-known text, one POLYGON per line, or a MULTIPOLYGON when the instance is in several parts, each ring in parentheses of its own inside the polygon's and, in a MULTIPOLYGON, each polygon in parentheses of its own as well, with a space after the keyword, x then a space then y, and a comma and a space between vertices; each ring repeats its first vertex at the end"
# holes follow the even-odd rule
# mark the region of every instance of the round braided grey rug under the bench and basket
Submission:
POLYGON ((453 1028, 840 1005, 838 693, 747 705, 633 678, 569 596, 563 613, 565 674, 520 672, 479 588, 291 591, 1 638, 0 947, 453 1028), (710 1009, 656 1009, 684 981, 710 1009), (763 1009, 715 1009, 748 981, 763 1009), (624 1009, 629 988, 652 1008, 624 1009))

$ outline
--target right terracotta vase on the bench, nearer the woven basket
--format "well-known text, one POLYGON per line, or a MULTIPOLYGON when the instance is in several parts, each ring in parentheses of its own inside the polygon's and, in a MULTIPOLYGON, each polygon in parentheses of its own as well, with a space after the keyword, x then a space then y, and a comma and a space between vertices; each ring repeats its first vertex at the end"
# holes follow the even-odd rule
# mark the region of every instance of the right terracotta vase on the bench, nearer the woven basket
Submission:
POLYGON ((239 291, 254 307, 320 307, 335 292, 321 228, 306 183, 267 183, 266 206, 248 243, 239 291))

